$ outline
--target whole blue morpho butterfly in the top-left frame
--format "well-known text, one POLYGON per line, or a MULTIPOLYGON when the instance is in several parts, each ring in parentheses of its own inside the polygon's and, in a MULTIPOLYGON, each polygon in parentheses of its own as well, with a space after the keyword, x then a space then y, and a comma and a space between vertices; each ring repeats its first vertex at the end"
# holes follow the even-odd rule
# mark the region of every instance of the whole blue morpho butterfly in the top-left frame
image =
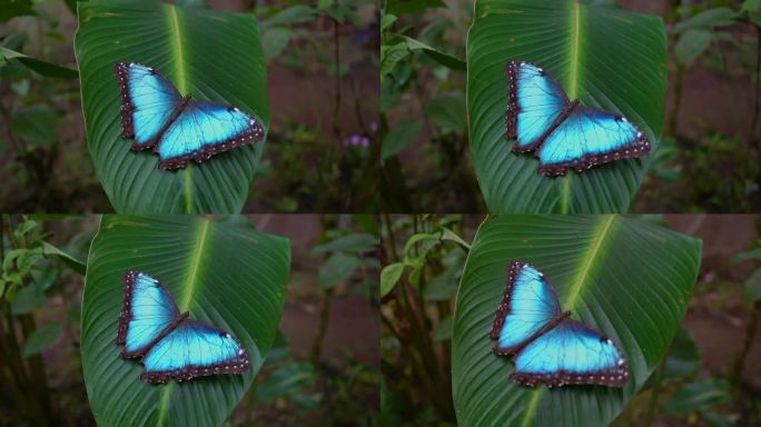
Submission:
POLYGON ((234 147, 264 138, 259 120, 235 107, 192 101, 150 67, 117 62, 121 128, 132 149, 152 148, 161 169, 184 168, 234 147))

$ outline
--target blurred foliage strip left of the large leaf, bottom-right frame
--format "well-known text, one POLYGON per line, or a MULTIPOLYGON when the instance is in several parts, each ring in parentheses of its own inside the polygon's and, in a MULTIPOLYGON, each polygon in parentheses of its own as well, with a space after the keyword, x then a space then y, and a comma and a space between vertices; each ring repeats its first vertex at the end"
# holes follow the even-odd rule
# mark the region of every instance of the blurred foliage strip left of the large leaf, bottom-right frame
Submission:
POLYGON ((473 226, 457 215, 384 218, 383 420, 404 419, 413 426, 456 423, 449 347, 454 297, 470 249, 459 236, 473 226))

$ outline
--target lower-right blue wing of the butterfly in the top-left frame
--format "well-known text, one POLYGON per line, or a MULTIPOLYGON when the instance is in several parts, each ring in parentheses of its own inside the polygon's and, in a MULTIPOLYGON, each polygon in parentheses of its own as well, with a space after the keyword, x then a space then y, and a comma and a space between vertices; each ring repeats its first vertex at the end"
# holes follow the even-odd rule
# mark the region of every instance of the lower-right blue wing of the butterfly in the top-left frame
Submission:
POLYGON ((214 102, 190 101, 167 131, 157 148, 162 169, 185 167, 234 147, 254 143, 264 137, 257 119, 237 108, 214 102))

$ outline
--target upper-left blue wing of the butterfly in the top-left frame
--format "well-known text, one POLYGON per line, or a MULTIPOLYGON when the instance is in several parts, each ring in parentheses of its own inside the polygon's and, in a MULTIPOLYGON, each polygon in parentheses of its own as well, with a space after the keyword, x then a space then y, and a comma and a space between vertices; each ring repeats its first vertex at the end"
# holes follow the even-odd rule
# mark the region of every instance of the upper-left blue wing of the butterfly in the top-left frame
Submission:
POLYGON ((113 67, 121 90, 122 135, 135 139, 136 150, 151 147, 182 97, 150 67, 137 62, 117 62, 113 67))

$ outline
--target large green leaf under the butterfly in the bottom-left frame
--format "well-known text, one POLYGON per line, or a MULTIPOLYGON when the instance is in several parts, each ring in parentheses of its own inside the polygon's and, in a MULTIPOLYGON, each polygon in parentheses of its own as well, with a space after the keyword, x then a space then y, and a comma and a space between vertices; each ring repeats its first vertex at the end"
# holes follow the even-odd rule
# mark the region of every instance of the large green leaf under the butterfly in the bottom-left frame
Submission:
POLYGON ((290 265, 285 238, 195 216, 106 216, 92 241, 82 302, 82 369, 102 426, 219 426, 254 380, 275 339, 290 265), (240 375, 150 385, 144 367, 119 356, 117 319, 126 270, 150 272, 180 311, 246 346, 240 375))

